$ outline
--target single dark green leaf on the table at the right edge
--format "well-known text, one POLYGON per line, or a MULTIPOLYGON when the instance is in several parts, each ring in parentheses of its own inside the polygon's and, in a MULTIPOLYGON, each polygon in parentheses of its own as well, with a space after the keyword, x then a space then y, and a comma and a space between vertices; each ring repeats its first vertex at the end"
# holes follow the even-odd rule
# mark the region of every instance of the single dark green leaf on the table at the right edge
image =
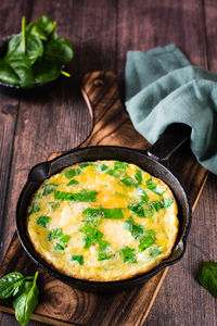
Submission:
POLYGON ((203 262, 196 277, 199 283, 217 298, 217 263, 203 262))

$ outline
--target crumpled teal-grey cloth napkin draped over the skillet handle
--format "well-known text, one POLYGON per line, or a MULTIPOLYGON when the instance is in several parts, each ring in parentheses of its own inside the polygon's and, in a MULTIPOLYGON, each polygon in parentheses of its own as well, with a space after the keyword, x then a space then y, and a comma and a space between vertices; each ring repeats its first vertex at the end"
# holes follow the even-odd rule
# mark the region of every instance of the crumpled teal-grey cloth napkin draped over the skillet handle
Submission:
POLYGON ((175 46, 128 51, 126 109, 153 143, 173 123, 191 126, 197 161, 217 174, 217 75, 193 66, 175 46))

